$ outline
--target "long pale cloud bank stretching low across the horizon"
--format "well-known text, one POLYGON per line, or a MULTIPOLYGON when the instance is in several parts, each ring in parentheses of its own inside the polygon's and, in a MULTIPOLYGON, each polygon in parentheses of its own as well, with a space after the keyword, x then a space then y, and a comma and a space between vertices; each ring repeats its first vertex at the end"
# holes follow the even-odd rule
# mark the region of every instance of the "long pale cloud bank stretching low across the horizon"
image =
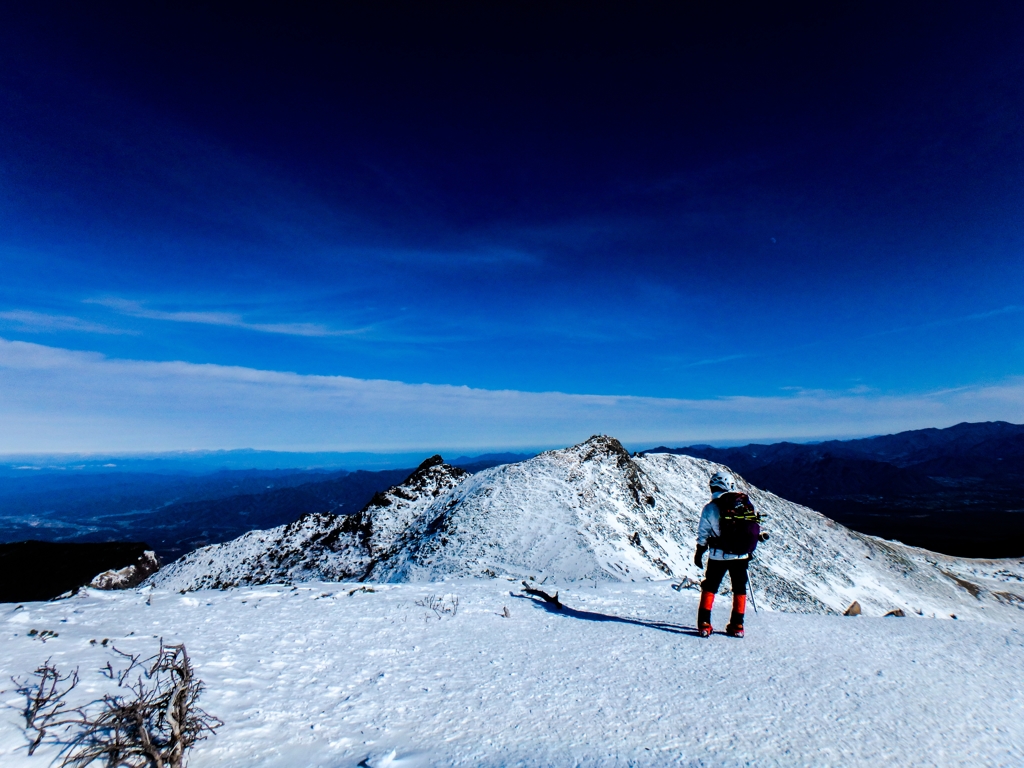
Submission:
POLYGON ((924 393, 681 399, 484 390, 112 359, 0 339, 0 453, 412 451, 815 438, 1024 421, 1024 378, 924 393))

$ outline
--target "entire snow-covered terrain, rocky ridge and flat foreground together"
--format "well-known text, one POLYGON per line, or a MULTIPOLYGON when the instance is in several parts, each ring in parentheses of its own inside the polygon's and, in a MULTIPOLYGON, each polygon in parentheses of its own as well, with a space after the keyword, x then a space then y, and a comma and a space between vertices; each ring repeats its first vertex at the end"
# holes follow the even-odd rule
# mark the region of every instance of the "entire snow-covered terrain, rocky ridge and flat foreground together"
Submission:
POLYGON ((163 638, 224 721, 200 768, 1024 765, 1024 562, 860 536, 750 487, 771 534, 761 612, 744 639, 698 638, 718 468, 608 437, 472 476, 435 457, 358 515, 253 531, 137 590, 2 606, 0 764, 59 748, 27 755, 10 676, 51 658, 93 698, 112 646, 163 638), (853 600, 864 615, 838 615, 853 600))

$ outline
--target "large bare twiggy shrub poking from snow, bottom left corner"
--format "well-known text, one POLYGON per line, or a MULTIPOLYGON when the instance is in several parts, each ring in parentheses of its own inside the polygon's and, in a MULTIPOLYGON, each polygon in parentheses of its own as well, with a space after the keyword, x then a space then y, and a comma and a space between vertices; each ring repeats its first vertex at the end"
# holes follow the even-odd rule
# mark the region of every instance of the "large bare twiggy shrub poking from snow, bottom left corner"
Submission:
POLYGON ((199 707, 205 686, 185 646, 161 641, 160 650, 144 659, 114 650, 127 666, 118 671, 108 662, 103 673, 122 692, 84 707, 67 702, 78 685, 78 669, 61 675, 47 659, 35 671, 36 681, 15 681, 26 697, 29 754, 49 732, 60 745, 60 768, 82 768, 94 761, 109 768, 183 768, 196 742, 223 725, 199 707), (61 733, 55 735, 58 729, 61 733))

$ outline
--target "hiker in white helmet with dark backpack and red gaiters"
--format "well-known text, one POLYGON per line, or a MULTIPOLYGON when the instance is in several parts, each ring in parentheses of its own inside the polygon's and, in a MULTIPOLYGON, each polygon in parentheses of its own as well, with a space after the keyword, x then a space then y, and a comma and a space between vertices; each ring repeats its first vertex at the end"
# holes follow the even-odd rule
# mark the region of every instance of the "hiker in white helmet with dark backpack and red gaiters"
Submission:
POLYGON ((732 616, 725 628, 729 637, 743 636, 743 613, 746 612, 746 567, 758 542, 767 541, 761 532, 759 515, 746 494, 736 490, 736 480, 728 472, 716 472, 711 478, 711 501, 700 512, 697 525, 697 551, 693 562, 703 567, 703 553, 711 549, 708 571, 700 583, 700 607, 697 610, 697 632, 700 637, 712 634, 711 609, 722 578, 729 571, 732 582, 732 616))

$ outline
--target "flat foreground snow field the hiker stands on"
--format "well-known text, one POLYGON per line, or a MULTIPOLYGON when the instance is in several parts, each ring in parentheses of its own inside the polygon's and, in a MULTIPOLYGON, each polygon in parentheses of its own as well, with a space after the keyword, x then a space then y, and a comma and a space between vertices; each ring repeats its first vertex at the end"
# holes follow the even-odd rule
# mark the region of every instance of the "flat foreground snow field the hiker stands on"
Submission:
POLYGON ((700 639, 696 593, 666 583, 549 582, 562 612, 505 580, 365 586, 4 605, 0 764, 56 754, 28 757, 11 676, 51 657, 93 697, 117 659, 90 640, 147 653, 163 637, 187 645, 225 723, 194 768, 1024 765, 1021 625, 751 612, 746 638, 700 639), (430 595, 458 612, 438 618, 430 595))

